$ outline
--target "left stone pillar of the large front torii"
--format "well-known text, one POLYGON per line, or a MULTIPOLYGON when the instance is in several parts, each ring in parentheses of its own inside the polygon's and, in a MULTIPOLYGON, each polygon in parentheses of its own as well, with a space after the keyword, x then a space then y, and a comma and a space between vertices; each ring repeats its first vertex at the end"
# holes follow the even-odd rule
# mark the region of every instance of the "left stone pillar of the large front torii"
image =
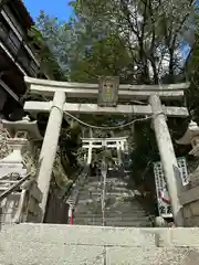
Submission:
POLYGON ((38 187, 43 193, 41 202, 41 222, 43 222, 45 208, 48 202, 49 189, 51 183, 51 174, 56 156, 60 130, 63 119, 63 106, 65 103, 65 93, 55 92, 52 108, 49 116, 49 121, 43 139, 43 145, 40 153, 40 170, 38 177, 38 187))

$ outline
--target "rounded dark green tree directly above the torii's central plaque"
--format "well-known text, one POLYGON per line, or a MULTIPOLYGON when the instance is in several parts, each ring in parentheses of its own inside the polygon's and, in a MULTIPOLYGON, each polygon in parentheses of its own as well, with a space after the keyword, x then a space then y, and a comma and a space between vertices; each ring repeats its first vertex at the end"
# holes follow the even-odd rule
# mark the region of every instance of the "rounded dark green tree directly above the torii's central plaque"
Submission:
POLYGON ((127 82, 127 66, 130 59, 124 44, 116 35, 106 35, 92 46, 85 47, 84 57, 71 65, 71 80, 78 82, 97 82, 101 75, 119 76, 121 82, 127 82))

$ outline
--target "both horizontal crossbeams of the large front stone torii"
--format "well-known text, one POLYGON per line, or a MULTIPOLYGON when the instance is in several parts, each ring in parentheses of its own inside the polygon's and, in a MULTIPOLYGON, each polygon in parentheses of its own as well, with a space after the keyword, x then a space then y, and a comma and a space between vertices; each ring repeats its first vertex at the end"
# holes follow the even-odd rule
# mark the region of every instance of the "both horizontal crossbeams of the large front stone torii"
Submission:
MULTIPOLYGON (((25 82, 30 88, 31 94, 40 94, 44 96, 53 96, 55 92, 65 93, 66 98, 97 98, 98 85, 84 83, 56 82, 49 80, 36 80, 25 76, 25 82)), ((184 97, 184 91, 188 88, 189 84, 171 84, 163 85, 119 85, 118 100, 127 99, 148 99, 156 94, 164 100, 179 99, 184 97)), ((24 109, 30 113, 49 113, 52 108, 52 102, 27 102, 24 109)), ((76 104, 65 103, 63 110, 73 114, 112 114, 112 115, 151 115, 150 105, 121 105, 116 107, 101 107, 97 104, 76 104)), ((186 117, 188 116, 185 107, 164 107, 164 112, 170 117, 186 117)))

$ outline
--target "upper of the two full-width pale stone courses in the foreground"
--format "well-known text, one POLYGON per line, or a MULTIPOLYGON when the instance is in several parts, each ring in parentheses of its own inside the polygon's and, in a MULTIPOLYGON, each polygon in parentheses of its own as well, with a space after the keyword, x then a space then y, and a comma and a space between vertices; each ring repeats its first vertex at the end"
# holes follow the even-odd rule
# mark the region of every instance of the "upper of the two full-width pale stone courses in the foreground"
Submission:
MULTIPOLYGON (((82 227, 66 224, 11 224, 2 225, 1 245, 4 242, 40 242, 49 244, 87 244, 113 246, 199 247, 199 227, 82 227)), ((1 252, 0 252, 1 254, 1 252)))

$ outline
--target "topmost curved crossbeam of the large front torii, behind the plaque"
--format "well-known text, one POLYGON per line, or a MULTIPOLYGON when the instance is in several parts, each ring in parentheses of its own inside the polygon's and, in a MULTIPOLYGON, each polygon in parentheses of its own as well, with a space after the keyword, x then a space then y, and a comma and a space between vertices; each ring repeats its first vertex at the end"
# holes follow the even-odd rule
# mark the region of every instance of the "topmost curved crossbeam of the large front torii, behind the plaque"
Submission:
MULTIPOLYGON (((67 98, 96 98, 98 95, 98 84, 70 83, 49 80, 38 80, 24 77, 32 94, 44 96, 53 95, 56 91, 65 92, 67 98)), ((121 99, 147 99, 151 94, 157 94, 164 99, 179 99, 184 96, 184 91, 189 87, 189 83, 171 85, 119 85, 118 97, 121 99)))

